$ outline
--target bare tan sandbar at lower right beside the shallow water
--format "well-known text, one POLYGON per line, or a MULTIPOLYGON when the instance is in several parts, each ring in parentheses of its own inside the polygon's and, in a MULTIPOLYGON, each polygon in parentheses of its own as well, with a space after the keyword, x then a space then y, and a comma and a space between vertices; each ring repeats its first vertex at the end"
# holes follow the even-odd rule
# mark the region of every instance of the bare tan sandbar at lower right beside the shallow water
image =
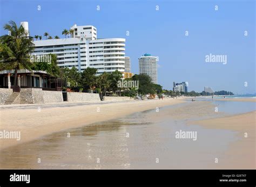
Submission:
POLYGON ((190 124, 204 128, 232 130, 237 132, 238 140, 230 143, 225 154, 218 157, 219 169, 255 169, 255 126, 256 111, 238 114, 231 117, 192 121, 190 124), (247 133, 247 138, 245 137, 247 133))

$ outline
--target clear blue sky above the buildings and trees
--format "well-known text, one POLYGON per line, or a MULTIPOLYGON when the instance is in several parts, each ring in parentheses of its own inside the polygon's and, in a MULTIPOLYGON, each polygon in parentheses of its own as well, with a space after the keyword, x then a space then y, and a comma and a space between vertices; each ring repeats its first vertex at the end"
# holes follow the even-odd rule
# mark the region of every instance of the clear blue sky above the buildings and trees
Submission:
POLYGON ((9 20, 28 21, 30 35, 48 32, 64 38, 63 29, 76 23, 97 27, 98 38, 125 38, 132 73, 138 73, 138 58, 144 53, 159 56, 158 83, 164 89, 172 89, 173 81, 187 81, 189 91, 208 86, 214 91, 255 93, 254 0, 0 0, 1 35, 9 20), (227 55, 227 64, 205 62, 210 53, 227 55))

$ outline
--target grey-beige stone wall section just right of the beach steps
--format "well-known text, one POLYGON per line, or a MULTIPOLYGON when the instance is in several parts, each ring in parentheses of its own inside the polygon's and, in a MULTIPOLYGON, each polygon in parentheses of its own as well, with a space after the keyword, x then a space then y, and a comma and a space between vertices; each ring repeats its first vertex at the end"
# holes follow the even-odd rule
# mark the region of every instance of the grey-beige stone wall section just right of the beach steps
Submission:
POLYGON ((21 104, 46 104, 63 102, 62 91, 46 91, 42 88, 22 88, 21 104))

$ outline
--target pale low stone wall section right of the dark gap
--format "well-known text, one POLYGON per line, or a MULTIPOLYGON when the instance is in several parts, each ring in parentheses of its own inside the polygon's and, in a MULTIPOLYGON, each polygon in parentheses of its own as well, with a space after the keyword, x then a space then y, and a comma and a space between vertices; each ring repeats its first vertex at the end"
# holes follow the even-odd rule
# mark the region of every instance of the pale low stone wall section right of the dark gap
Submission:
POLYGON ((99 93, 67 92, 68 102, 99 102, 99 93))

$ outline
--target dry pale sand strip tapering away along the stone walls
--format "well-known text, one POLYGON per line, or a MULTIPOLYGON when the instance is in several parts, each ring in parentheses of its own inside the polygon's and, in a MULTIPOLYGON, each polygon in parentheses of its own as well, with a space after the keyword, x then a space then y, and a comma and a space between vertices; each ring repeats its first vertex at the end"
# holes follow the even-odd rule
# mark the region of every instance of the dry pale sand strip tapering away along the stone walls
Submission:
POLYGON ((181 98, 164 100, 133 100, 116 103, 63 103, 47 105, 14 105, 0 109, 0 129, 20 131, 21 140, 0 139, 0 149, 24 143, 41 136, 123 117, 165 105, 184 103, 181 98))

